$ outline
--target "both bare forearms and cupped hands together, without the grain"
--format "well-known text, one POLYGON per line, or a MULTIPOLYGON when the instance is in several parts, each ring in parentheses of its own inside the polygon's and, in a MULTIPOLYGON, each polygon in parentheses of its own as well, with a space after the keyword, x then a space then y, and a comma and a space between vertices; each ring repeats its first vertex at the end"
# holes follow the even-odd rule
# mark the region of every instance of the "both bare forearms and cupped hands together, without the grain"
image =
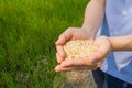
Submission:
POLYGON ((107 37, 100 36, 95 40, 97 51, 88 57, 65 59, 66 54, 63 46, 70 40, 94 40, 102 23, 106 0, 91 0, 86 7, 82 28, 69 28, 62 33, 56 44, 56 58, 58 65, 56 72, 73 69, 97 69, 103 63, 105 57, 112 51, 132 51, 132 35, 107 37))

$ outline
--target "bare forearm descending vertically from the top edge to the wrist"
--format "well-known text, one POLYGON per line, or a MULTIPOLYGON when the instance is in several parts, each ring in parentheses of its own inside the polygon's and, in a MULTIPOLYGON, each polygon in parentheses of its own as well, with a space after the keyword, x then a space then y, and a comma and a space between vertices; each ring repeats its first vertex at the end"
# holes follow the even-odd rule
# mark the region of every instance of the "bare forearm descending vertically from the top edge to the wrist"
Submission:
POLYGON ((91 0, 86 7, 82 29, 95 37, 105 15, 106 0, 91 0))

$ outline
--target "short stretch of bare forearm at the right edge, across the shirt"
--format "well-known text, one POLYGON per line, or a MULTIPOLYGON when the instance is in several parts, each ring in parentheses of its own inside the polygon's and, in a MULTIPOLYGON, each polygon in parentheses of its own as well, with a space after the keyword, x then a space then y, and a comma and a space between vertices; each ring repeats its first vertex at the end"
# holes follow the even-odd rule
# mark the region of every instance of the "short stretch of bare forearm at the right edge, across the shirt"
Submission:
POLYGON ((132 51, 132 35, 109 38, 112 51, 132 51))

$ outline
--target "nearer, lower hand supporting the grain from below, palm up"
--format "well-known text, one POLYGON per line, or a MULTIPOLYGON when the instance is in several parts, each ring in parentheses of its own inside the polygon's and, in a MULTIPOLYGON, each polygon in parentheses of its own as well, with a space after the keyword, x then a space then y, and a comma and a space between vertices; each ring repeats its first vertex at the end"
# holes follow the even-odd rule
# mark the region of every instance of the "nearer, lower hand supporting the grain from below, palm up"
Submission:
POLYGON ((55 70, 63 72, 81 68, 97 69, 102 65, 103 59, 111 52, 111 43, 108 37, 100 36, 95 41, 95 46, 97 50, 90 56, 85 58, 65 59, 61 65, 55 67, 55 70))

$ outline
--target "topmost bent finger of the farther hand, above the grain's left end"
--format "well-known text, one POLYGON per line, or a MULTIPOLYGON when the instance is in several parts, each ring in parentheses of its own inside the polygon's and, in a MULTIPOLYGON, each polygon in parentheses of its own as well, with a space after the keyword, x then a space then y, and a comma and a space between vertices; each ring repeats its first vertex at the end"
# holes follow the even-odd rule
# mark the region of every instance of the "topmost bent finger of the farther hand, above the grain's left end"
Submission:
POLYGON ((68 29, 63 34, 59 35, 56 45, 64 45, 68 40, 70 40, 73 36, 73 30, 68 29))

